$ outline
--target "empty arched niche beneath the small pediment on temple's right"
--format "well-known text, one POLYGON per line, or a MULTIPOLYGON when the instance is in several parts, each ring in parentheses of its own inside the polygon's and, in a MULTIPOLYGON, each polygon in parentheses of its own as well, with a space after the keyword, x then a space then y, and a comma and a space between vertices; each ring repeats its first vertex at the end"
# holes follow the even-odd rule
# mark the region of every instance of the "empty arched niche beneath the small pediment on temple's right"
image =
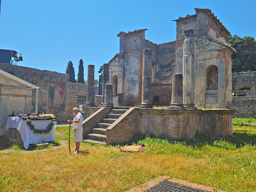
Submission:
POLYGON ((210 65, 206 68, 206 90, 218 90, 218 67, 210 65))

